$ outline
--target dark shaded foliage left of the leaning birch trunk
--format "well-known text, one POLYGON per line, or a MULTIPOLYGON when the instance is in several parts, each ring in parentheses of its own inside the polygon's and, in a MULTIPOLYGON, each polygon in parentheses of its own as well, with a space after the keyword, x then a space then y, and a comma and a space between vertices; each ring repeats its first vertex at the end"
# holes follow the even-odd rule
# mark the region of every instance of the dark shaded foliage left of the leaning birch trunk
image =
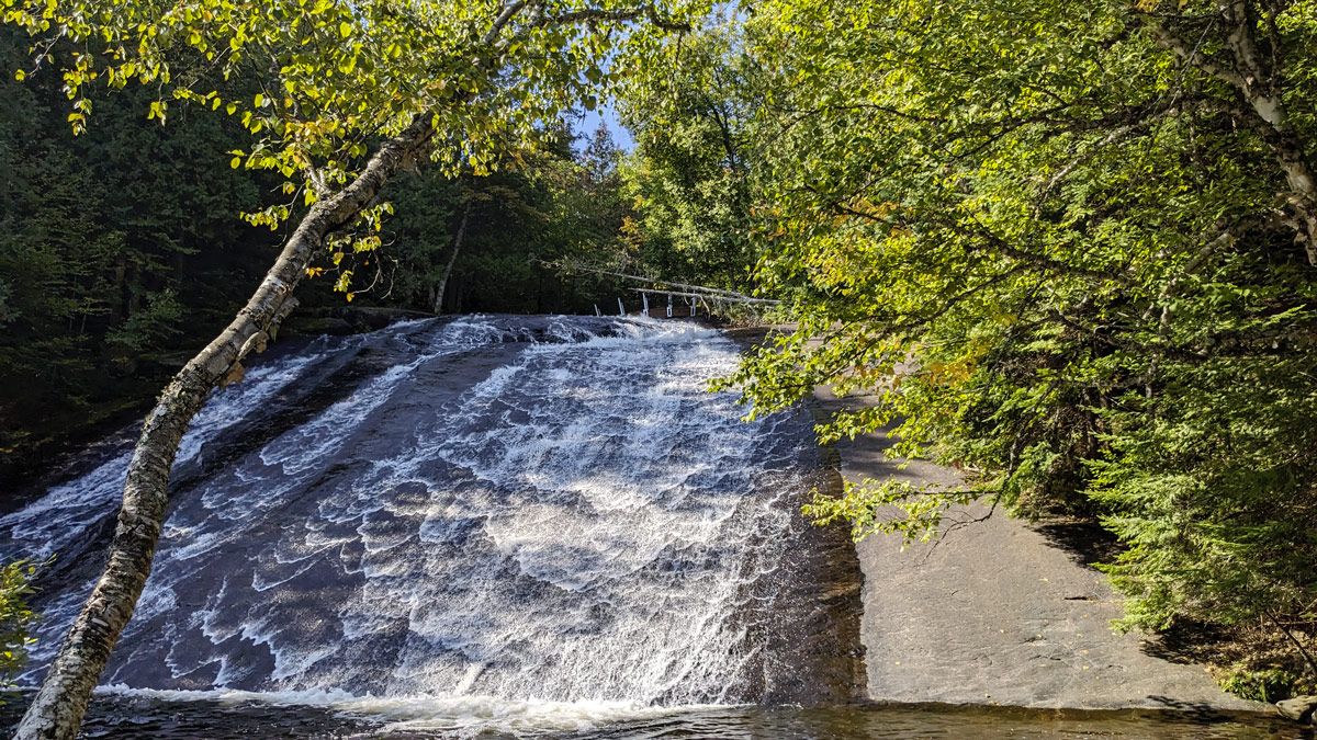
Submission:
POLYGON ((13 79, 25 51, 0 28, 0 384, 22 391, 0 395, 0 450, 153 394, 270 259, 236 217, 262 183, 216 167, 236 126, 162 129, 132 91, 74 137, 58 76, 13 79))

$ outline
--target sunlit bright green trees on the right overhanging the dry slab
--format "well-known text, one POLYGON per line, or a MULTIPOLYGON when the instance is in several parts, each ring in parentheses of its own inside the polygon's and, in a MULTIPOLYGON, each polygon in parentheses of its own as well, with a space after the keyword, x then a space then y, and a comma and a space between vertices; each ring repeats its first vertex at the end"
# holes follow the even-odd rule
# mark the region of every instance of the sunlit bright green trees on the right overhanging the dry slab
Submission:
MULTIPOLYGON (((776 0, 723 33, 669 57, 716 46, 680 74, 759 101, 755 277, 798 321, 728 383, 755 413, 873 395, 822 436, 979 471, 807 512, 860 537, 980 498, 1097 517, 1127 624, 1266 632, 1312 675, 1317 5, 776 0)), ((723 155, 680 120, 637 138, 723 155)))

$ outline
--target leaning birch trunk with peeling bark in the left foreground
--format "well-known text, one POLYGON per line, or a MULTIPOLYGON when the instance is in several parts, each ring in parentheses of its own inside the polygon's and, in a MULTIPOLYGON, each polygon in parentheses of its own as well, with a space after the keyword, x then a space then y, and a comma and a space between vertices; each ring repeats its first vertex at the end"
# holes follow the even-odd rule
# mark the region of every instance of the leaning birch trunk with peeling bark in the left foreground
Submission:
POLYGON ((317 201, 233 323, 165 388, 146 416, 128 466, 109 564, 50 664, 16 739, 72 739, 78 735, 109 652, 133 615, 150 574, 165 523, 170 466, 188 423, 212 388, 241 378, 241 361, 249 352, 265 349, 265 342, 296 305, 292 288, 306 274, 324 237, 349 224, 374 200, 399 165, 415 155, 431 134, 428 121, 417 120, 398 137, 387 140, 352 184, 317 201))

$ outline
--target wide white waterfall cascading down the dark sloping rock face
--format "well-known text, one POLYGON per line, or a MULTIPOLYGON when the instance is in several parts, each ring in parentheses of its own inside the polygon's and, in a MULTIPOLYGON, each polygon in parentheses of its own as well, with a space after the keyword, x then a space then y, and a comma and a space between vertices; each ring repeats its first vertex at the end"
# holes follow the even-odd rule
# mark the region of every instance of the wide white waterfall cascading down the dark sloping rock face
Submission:
MULTIPOLYGON (((741 421, 734 394, 706 391, 735 362, 694 324, 593 317, 411 321, 258 362, 182 444, 104 682, 846 698, 853 665, 820 677, 797 660, 831 619, 793 554, 820 483, 809 417, 741 421)), ((99 573, 126 465, 0 519, 7 558, 55 558, 29 681, 99 573)))

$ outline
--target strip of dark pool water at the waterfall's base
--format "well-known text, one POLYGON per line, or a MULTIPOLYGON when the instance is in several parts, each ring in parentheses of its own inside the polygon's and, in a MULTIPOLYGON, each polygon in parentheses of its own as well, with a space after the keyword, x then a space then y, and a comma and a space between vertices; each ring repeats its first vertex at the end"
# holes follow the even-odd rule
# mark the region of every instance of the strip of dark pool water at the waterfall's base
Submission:
MULTIPOLYGON (((18 707, 0 707, 13 727, 18 707)), ((1023 710, 939 704, 838 707, 639 707, 489 700, 440 711, 424 702, 381 700, 353 710, 336 703, 282 704, 236 693, 219 699, 100 695, 83 727, 88 739, 1317 739, 1279 716, 1154 710, 1023 710)))

